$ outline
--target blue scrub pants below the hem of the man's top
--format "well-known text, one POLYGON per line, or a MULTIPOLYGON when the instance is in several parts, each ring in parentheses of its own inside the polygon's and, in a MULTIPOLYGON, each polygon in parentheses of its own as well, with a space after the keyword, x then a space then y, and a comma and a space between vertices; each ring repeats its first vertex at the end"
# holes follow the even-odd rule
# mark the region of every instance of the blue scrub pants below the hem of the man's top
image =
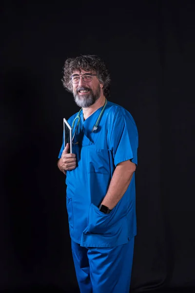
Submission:
POLYGON ((116 247, 81 247, 72 240, 80 293, 129 293, 134 237, 116 247))

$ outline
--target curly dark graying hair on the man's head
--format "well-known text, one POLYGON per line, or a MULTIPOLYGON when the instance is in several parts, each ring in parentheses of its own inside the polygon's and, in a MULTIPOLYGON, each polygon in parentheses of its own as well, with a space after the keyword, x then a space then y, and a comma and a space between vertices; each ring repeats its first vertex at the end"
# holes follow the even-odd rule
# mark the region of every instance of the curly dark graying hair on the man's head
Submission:
POLYGON ((76 58, 68 58, 63 67, 63 86, 69 92, 73 92, 73 85, 70 81, 70 76, 74 71, 83 69, 85 71, 95 71, 98 75, 98 80, 103 84, 103 94, 107 98, 110 94, 110 74, 104 62, 96 55, 81 55, 76 58))

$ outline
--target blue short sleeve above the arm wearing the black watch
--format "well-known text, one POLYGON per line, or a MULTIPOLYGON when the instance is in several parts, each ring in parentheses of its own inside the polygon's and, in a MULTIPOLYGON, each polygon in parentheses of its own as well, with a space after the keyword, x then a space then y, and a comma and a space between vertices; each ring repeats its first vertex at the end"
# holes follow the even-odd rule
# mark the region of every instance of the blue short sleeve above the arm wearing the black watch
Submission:
POLYGON ((138 134, 135 121, 130 113, 117 113, 110 131, 108 145, 112 151, 114 164, 131 160, 137 165, 138 134))

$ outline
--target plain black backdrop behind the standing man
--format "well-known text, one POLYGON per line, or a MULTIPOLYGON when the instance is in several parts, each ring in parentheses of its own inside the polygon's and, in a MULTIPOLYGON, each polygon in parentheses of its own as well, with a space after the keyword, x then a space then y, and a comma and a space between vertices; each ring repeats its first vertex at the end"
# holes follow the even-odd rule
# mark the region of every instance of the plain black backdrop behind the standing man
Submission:
POLYGON ((193 1, 1 4, 0 290, 77 292, 56 163, 67 57, 97 54, 139 133, 132 291, 195 287, 193 1))

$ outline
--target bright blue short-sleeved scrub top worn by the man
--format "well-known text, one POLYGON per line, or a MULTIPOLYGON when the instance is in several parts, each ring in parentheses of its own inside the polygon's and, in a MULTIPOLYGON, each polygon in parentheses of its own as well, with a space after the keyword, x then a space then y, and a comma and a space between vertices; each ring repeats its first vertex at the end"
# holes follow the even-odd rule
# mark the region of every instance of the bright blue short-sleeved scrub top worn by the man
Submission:
MULTIPOLYGON (((132 115, 122 106, 107 102, 98 124, 100 107, 80 123, 74 137, 77 167, 66 172, 66 204, 70 236, 84 247, 112 247, 128 242, 137 234, 135 173, 131 183, 109 214, 99 211, 118 163, 131 160, 137 165, 138 134, 132 115)), ((72 126, 78 113, 69 118, 72 126)), ((75 123, 74 130, 77 125, 75 123)), ((64 149, 62 143, 59 158, 64 149)))

